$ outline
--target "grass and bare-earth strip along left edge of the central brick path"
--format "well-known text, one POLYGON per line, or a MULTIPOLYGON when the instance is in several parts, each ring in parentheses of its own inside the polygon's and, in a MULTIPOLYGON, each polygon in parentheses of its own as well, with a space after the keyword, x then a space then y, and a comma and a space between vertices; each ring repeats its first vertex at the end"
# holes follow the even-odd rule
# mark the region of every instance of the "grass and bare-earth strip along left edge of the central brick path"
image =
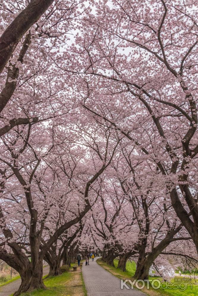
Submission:
MULTIPOLYGON (((72 264, 72 266, 76 265, 72 264)), ((69 271, 60 276, 52 276, 44 279, 47 290, 38 289, 33 292, 21 294, 21 296, 86 296, 87 292, 82 277, 81 268, 76 272, 69 271)), ((13 295, 13 294, 12 294, 13 295)), ((12 296, 10 295, 10 296, 12 296)))

